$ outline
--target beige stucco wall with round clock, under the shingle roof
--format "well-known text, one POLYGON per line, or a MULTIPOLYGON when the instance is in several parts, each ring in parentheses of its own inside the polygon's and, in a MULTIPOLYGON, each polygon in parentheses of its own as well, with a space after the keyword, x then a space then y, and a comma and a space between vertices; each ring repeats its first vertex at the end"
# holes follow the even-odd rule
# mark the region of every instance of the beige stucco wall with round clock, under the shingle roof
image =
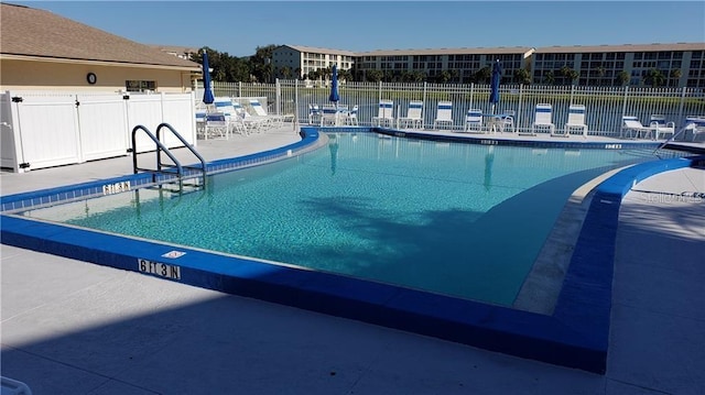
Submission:
POLYGON ((0 90, 124 90, 126 80, 156 81, 158 92, 192 91, 192 75, 188 70, 36 62, 24 59, 0 59, 0 90), (95 85, 86 76, 94 73, 95 85))

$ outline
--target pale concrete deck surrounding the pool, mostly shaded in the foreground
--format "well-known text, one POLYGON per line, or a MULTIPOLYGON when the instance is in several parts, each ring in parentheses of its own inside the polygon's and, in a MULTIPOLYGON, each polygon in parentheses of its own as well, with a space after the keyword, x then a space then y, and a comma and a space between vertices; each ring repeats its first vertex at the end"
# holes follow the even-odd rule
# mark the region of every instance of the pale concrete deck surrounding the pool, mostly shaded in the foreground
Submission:
MULTIPOLYGON (((198 142, 208 160, 289 131, 198 142)), ((180 150, 177 150, 180 151, 180 150)), ((0 175, 3 195, 131 173, 120 157, 0 175)), ((2 375, 34 394, 705 392, 705 169, 623 199, 601 375, 2 245, 2 375), (674 195, 672 195, 674 194, 674 195)))

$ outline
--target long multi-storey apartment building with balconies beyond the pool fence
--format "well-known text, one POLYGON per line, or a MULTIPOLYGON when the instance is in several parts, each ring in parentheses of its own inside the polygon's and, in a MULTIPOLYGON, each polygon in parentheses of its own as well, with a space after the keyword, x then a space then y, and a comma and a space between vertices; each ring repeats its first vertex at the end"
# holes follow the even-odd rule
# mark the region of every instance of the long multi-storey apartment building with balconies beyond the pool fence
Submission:
POLYGON ((334 63, 349 69, 356 80, 376 73, 386 81, 427 80, 469 84, 481 81, 492 62, 502 63, 502 83, 519 84, 518 69, 532 84, 590 86, 659 86, 705 88, 705 43, 626 44, 596 46, 495 47, 348 51, 282 45, 273 52, 279 78, 305 78, 334 63), (564 72, 572 73, 564 73, 564 72), (653 76, 658 70, 660 77, 653 76), (575 79, 571 80, 573 77, 575 79), (479 78, 479 80, 478 80, 479 78))

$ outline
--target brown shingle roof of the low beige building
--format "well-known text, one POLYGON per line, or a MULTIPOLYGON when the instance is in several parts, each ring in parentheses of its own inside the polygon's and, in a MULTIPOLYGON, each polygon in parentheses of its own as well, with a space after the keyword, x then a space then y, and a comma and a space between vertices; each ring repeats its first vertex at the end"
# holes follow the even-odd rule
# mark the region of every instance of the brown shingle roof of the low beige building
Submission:
POLYGON ((0 4, 0 56, 73 59, 199 69, 149 45, 24 6, 0 4))

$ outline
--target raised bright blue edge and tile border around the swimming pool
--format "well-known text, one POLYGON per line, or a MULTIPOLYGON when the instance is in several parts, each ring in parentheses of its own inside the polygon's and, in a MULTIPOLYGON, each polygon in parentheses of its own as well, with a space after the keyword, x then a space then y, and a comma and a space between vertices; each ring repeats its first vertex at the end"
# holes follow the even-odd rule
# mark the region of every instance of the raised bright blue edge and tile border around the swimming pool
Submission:
MULTIPOLYGON (((226 171, 290 157, 315 146, 321 141, 318 130, 326 131, 304 127, 301 142, 209 162, 208 167, 226 171)), ((377 132, 357 128, 349 131, 377 132)), ((597 186, 551 316, 7 213, 1 217, 0 237, 3 244, 132 272, 143 273, 140 264, 144 263, 175 266, 180 278, 170 281, 604 374, 621 199, 634 184, 649 176, 703 162, 704 157, 695 157, 642 163, 597 186)), ((79 197, 74 191, 80 196, 101 195, 106 186, 126 182, 149 184, 151 179, 147 178, 148 175, 137 174, 17 194, 2 197, 0 204, 6 211, 47 204, 53 198, 79 197)), ((110 193, 110 187, 107 191, 110 193)), ((165 278, 158 273, 145 274, 165 278)))

